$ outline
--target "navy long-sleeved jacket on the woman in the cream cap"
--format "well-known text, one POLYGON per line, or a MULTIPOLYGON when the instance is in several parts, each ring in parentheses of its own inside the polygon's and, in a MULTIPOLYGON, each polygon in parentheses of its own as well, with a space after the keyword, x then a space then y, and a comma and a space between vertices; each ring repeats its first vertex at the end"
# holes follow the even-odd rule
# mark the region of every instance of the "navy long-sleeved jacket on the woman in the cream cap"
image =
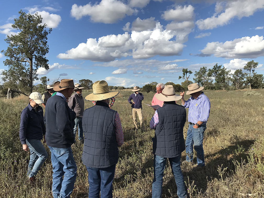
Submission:
POLYGON ((39 105, 37 113, 30 104, 22 110, 20 116, 19 138, 21 144, 26 144, 26 139, 41 140, 46 133, 43 120, 43 109, 39 105))

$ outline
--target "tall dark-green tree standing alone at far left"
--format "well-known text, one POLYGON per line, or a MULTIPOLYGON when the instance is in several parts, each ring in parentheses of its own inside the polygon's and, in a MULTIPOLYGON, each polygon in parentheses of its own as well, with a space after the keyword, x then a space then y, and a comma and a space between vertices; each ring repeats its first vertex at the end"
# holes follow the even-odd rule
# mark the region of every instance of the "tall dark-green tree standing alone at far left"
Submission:
POLYGON ((45 30, 46 24, 41 25, 42 17, 37 13, 35 15, 26 14, 22 10, 18 12, 20 16, 15 18, 15 23, 12 27, 18 31, 18 35, 7 36, 5 41, 8 43, 7 50, 2 50, 8 59, 3 63, 8 66, 2 75, 9 81, 20 81, 17 75, 13 74, 12 70, 19 72, 22 69, 24 72, 22 78, 28 80, 29 92, 32 92, 32 82, 37 78, 36 70, 39 67, 49 69, 48 59, 45 55, 49 52, 47 44, 48 34, 52 31, 50 28, 45 30), (34 66, 34 69, 33 69, 34 66))

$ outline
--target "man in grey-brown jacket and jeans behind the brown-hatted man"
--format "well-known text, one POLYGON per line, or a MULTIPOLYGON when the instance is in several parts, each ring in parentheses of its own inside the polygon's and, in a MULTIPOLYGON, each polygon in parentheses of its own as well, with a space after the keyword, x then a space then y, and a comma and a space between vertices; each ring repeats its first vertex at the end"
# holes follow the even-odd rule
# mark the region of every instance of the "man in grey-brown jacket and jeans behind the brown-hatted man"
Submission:
POLYGON ((68 102, 70 109, 76 113, 76 119, 74 120, 75 125, 73 129, 74 137, 76 136, 78 127, 78 139, 81 143, 84 142, 82 129, 82 116, 84 112, 84 100, 82 96, 83 88, 84 87, 82 87, 80 84, 76 84, 74 88, 75 93, 69 98, 68 102))

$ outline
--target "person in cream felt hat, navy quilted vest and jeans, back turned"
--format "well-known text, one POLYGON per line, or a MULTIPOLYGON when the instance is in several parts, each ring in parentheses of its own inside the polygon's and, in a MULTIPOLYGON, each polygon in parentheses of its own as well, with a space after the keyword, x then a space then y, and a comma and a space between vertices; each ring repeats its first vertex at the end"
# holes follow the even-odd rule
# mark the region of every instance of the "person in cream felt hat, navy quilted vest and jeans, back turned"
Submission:
POLYGON ((187 193, 180 159, 181 153, 185 150, 183 127, 186 122, 186 110, 176 104, 175 101, 180 100, 181 96, 175 94, 172 85, 166 85, 162 94, 155 97, 164 101, 164 104, 155 111, 149 123, 150 128, 155 129, 155 136, 152 138, 154 154, 152 197, 161 198, 163 173, 168 158, 177 185, 177 195, 179 198, 185 198, 187 193))

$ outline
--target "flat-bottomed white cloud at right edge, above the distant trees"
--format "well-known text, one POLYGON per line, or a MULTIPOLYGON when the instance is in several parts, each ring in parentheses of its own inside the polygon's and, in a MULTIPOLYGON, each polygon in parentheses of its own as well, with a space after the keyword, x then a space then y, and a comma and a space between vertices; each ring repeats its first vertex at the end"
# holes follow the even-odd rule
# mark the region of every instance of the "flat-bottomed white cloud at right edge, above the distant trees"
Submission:
POLYGON ((264 55, 263 36, 242 37, 225 43, 207 43, 203 54, 214 54, 222 58, 257 58, 264 55))

